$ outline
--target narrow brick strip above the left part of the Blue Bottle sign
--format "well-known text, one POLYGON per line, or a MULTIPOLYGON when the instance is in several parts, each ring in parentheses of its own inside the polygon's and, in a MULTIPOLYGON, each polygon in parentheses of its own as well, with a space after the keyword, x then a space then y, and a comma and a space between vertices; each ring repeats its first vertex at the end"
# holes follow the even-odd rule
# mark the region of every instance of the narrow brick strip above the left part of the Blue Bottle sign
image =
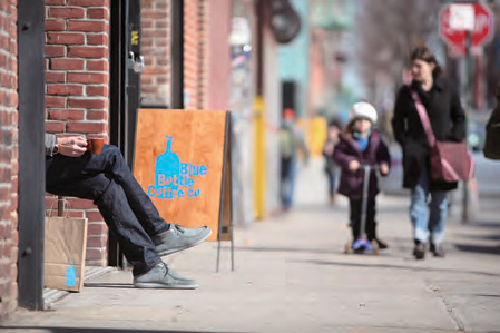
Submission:
POLYGON ((140 52, 146 68, 140 77, 143 105, 170 104, 170 1, 140 2, 140 52))

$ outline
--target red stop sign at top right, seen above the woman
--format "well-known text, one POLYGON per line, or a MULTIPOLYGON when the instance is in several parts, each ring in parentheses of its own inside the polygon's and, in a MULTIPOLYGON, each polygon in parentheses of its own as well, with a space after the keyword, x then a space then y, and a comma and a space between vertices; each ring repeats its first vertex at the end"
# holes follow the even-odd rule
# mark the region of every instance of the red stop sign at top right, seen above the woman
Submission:
POLYGON ((480 2, 447 4, 440 12, 439 21, 441 38, 450 47, 452 56, 464 56, 467 53, 469 33, 472 50, 481 49, 493 35, 493 14, 488 7, 480 2), (467 10, 470 10, 471 7, 473 8, 474 17, 473 29, 469 32, 467 29, 461 28, 470 26, 470 22, 460 22, 460 20, 470 20, 470 14, 467 13, 467 10))

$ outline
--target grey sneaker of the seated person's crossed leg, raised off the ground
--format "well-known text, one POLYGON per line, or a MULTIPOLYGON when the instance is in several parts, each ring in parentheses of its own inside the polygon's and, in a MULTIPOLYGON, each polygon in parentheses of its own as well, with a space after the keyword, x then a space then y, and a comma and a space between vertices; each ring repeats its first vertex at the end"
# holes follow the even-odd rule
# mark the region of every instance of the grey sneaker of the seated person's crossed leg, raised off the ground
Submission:
POLYGON ((165 233, 153 236, 153 243, 155 243, 156 253, 164 256, 198 245, 209 235, 212 235, 212 229, 207 226, 186 229, 180 225, 173 224, 165 233))

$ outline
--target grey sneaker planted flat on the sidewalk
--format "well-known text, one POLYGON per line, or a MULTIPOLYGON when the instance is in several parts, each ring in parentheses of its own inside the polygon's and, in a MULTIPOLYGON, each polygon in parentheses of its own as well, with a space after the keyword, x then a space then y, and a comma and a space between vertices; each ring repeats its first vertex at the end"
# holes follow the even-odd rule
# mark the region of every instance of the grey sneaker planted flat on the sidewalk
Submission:
POLYGON ((158 264, 149 272, 135 276, 136 288, 194 290, 198 285, 194 280, 185 278, 168 268, 165 263, 158 264))

